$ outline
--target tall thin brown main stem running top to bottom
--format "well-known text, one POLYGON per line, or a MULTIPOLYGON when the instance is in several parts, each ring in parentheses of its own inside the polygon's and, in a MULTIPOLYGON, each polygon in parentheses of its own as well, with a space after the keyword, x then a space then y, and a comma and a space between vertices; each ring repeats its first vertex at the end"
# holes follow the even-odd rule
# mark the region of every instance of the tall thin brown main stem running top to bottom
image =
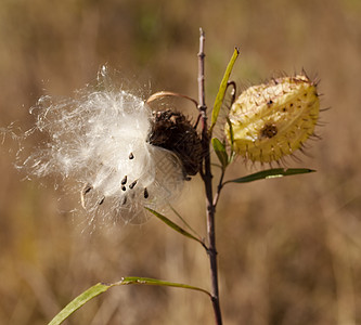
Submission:
POLYGON ((201 174, 205 184, 206 205, 207 205, 207 236, 208 236, 208 257, 210 262, 210 280, 211 280, 211 303, 215 312, 216 324, 222 324, 222 315, 219 304, 218 290, 218 266, 216 250, 216 227, 215 227, 215 205, 212 204, 212 174, 210 170, 210 134, 207 127, 207 106, 205 103, 205 34, 201 28, 199 53, 198 53, 198 108, 202 121, 202 145, 204 153, 204 169, 201 174))

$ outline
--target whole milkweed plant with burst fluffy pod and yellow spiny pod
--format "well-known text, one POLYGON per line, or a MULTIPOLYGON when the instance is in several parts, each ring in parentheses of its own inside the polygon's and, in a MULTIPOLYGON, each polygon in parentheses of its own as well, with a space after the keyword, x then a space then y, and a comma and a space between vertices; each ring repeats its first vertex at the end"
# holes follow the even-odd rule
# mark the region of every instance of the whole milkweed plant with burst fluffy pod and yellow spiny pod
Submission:
MULTIPOLYGON (((69 302, 49 323, 61 324, 73 312, 121 285, 156 285, 202 291, 209 296, 215 323, 222 324, 218 289, 218 265, 215 218, 222 188, 231 183, 312 172, 306 168, 282 168, 286 157, 302 151, 305 142, 318 138, 320 103, 317 82, 306 73, 282 76, 254 86, 236 98, 230 81, 234 53, 227 66, 211 113, 205 100, 205 35, 201 29, 198 52, 198 99, 171 91, 160 91, 146 101, 112 87, 106 67, 99 73, 98 87, 78 91, 74 99, 42 96, 30 113, 36 125, 24 138, 35 132, 47 135, 17 166, 29 176, 55 176, 74 180, 79 193, 79 208, 85 209, 88 224, 121 219, 142 222, 155 216, 176 232, 202 245, 209 258, 210 289, 169 281, 125 276, 112 284, 99 283, 69 302), (219 118, 225 94, 231 105, 219 118), (197 119, 190 121, 175 109, 152 112, 152 103, 166 96, 181 96, 193 102, 197 119), (215 127, 223 134, 214 135, 215 127), (216 155, 211 155, 215 153, 216 155), (225 180, 227 168, 236 158, 259 161, 261 171, 225 180), (214 159, 218 159, 216 164, 214 159), (214 185, 211 168, 218 165, 220 177, 214 185), (272 168, 276 165, 278 168, 272 168), (265 168, 268 166, 269 169, 265 168), (199 174, 206 198, 207 236, 197 235, 180 216, 171 221, 164 212, 182 191, 182 185, 199 174)), ((222 108, 223 109, 223 108, 222 108)))

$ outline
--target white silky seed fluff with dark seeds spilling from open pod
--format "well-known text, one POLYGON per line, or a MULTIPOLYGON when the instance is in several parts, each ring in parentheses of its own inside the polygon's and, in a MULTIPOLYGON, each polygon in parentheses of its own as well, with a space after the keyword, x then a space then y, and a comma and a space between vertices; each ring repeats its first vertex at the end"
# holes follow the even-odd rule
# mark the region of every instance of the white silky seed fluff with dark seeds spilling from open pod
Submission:
POLYGON ((179 196, 184 168, 175 153, 150 143, 152 112, 145 102, 114 89, 104 67, 101 78, 74 99, 38 101, 30 110, 36 126, 24 138, 40 132, 48 140, 18 167, 30 176, 75 180, 89 225, 142 222, 144 206, 162 209, 179 196))

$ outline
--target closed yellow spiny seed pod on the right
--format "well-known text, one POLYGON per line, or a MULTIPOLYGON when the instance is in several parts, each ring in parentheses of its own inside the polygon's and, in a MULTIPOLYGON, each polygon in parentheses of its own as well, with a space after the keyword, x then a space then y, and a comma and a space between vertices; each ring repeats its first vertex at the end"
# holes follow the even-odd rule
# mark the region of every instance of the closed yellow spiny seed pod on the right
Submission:
MULTIPOLYGON (((252 161, 278 161, 301 148, 313 135, 319 110, 317 84, 306 75, 250 87, 229 113, 233 148, 252 161)), ((231 143, 229 123, 225 134, 231 143)))

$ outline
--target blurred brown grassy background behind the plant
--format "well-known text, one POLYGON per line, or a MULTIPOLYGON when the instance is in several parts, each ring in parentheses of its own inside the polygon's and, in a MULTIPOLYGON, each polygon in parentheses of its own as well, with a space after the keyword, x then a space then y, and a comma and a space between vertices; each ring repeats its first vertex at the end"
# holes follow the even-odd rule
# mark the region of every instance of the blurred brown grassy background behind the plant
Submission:
MULTIPOLYGON (((240 88, 305 68, 321 79, 321 141, 289 161, 317 173, 224 188, 217 210, 224 324, 361 323, 361 2, 358 0, 2 0, 0 127, 26 130, 43 93, 72 95, 102 64, 144 98, 197 96, 198 28, 206 31, 207 104, 235 46, 240 88), (124 80, 124 81, 123 81, 124 80)), ((177 101, 177 109, 194 109, 177 101)), ((0 146, 0 324, 46 324, 98 282, 152 276, 209 288, 202 247, 155 218, 82 232, 52 180, 24 181, 16 141, 0 146)), ((34 143, 35 144, 35 143, 34 143)), ((238 161, 228 178, 258 170, 238 161)), ((215 171, 216 172, 216 171, 215 171)), ((216 172, 217 178, 217 172, 216 172)), ((205 235, 198 178, 177 209, 205 235)), ((212 324, 206 296, 117 287, 67 324, 212 324)))

